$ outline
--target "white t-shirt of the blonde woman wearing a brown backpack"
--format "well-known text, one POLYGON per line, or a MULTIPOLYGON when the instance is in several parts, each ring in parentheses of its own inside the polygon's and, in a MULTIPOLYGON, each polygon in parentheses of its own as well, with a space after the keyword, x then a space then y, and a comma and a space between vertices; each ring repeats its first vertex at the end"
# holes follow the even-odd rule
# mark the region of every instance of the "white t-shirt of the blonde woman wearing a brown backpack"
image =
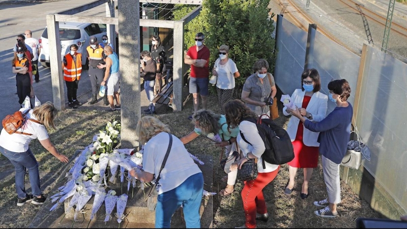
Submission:
MULTIPOLYGON (((22 113, 24 113, 26 110, 27 108, 20 109, 22 113)), ((37 120, 33 115, 33 110, 30 110, 30 112, 27 113, 27 118, 37 120)), ((32 122, 30 120, 27 120, 24 126, 17 131, 31 133, 33 135, 19 133, 9 134, 5 129, 3 129, 2 133, 0 133, 0 146, 11 152, 22 153, 28 150, 28 145, 30 145, 32 139, 38 138, 38 140, 41 141, 49 137, 47 129, 44 125, 32 122)))

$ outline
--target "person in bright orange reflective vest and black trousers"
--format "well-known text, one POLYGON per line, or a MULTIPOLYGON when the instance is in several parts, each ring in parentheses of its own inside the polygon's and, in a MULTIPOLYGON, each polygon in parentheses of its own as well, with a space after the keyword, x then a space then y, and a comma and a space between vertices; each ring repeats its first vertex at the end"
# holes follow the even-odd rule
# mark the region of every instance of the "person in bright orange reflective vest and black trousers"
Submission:
POLYGON ((82 54, 77 53, 78 46, 71 45, 70 52, 64 56, 62 68, 64 69, 64 80, 67 84, 68 106, 78 108, 82 105, 76 99, 76 91, 78 90, 78 83, 80 74, 82 72, 82 54))

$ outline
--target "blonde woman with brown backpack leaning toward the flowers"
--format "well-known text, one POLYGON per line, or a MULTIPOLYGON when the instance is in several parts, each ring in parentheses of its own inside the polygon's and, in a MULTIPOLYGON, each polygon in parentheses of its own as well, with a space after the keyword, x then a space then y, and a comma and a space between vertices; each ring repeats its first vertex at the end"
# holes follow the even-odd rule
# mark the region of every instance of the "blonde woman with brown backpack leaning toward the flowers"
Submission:
POLYGON ((15 167, 15 182, 18 196, 17 206, 23 206, 25 203, 42 205, 45 202, 45 196, 41 192, 40 174, 38 162, 29 148, 33 139, 40 141, 41 145, 61 162, 67 163, 68 158, 60 154, 52 145, 49 139, 47 129, 56 130, 54 119, 58 113, 51 102, 46 102, 34 110, 21 108, 25 113, 26 121, 22 128, 15 133, 9 134, 5 129, 0 134, 0 152, 6 156, 15 167), (33 195, 25 192, 24 177, 28 170, 33 195), (34 197, 34 198, 33 198, 34 197))

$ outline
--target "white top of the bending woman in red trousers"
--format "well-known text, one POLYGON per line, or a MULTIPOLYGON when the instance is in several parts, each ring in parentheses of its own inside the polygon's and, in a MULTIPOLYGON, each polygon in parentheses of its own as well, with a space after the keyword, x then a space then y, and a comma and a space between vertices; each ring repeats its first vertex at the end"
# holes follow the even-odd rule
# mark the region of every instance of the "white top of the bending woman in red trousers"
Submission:
POLYGON ((257 171, 258 173, 270 173, 278 168, 278 164, 270 164, 265 161, 266 169, 263 168, 263 159, 261 159, 261 155, 266 150, 264 145, 264 141, 261 139, 260 134, 258 134, 258 130, 256 124, 249 122, 249 121, 242 121, 239 124, 239 130, 245 136, 245 139, 250 142, 248 144, 245 140, 243 140, 242 135, 239 132, 237 142, 242 151, 244 157, 248 153, 252 153, 254 156, 258 158, 257 160, 257 171))

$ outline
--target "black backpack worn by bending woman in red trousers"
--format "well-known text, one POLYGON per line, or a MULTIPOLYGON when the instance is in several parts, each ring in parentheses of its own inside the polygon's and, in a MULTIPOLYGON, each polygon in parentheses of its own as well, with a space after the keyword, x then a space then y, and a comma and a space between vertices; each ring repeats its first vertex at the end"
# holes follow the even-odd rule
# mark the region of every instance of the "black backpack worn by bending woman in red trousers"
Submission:
MULTIPOLYGON (((261 115, 257 122, 255 119, 244 120, 256 124, 258 133, 264 141, 266 150, 261 155, 263 168, 266 168, 265 161, 270 164, 285 164, 292 161, 294 159, 294 149, 287 131, 273 122, 270 117, 269 119, 261 119, 262 116, 269 117, 268 115, 261 115)), ((243 136, 242 131, 240 131, 240 135, 244 141, 250 144, 243 136)))

